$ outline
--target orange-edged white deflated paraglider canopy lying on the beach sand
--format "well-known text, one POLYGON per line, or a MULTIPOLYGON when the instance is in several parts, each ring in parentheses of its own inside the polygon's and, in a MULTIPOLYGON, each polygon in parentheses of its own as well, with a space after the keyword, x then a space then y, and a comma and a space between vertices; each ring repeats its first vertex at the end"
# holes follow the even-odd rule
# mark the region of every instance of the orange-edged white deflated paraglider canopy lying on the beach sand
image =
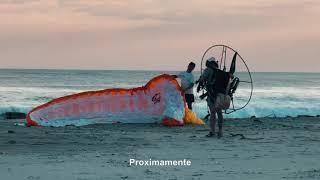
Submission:
POLYGON ((201 124, 187 111, 184 94, 170 75, 133 89, 89 91, 54 99, 27 115, 28 125, 65 126, 95 123, 201 124))

